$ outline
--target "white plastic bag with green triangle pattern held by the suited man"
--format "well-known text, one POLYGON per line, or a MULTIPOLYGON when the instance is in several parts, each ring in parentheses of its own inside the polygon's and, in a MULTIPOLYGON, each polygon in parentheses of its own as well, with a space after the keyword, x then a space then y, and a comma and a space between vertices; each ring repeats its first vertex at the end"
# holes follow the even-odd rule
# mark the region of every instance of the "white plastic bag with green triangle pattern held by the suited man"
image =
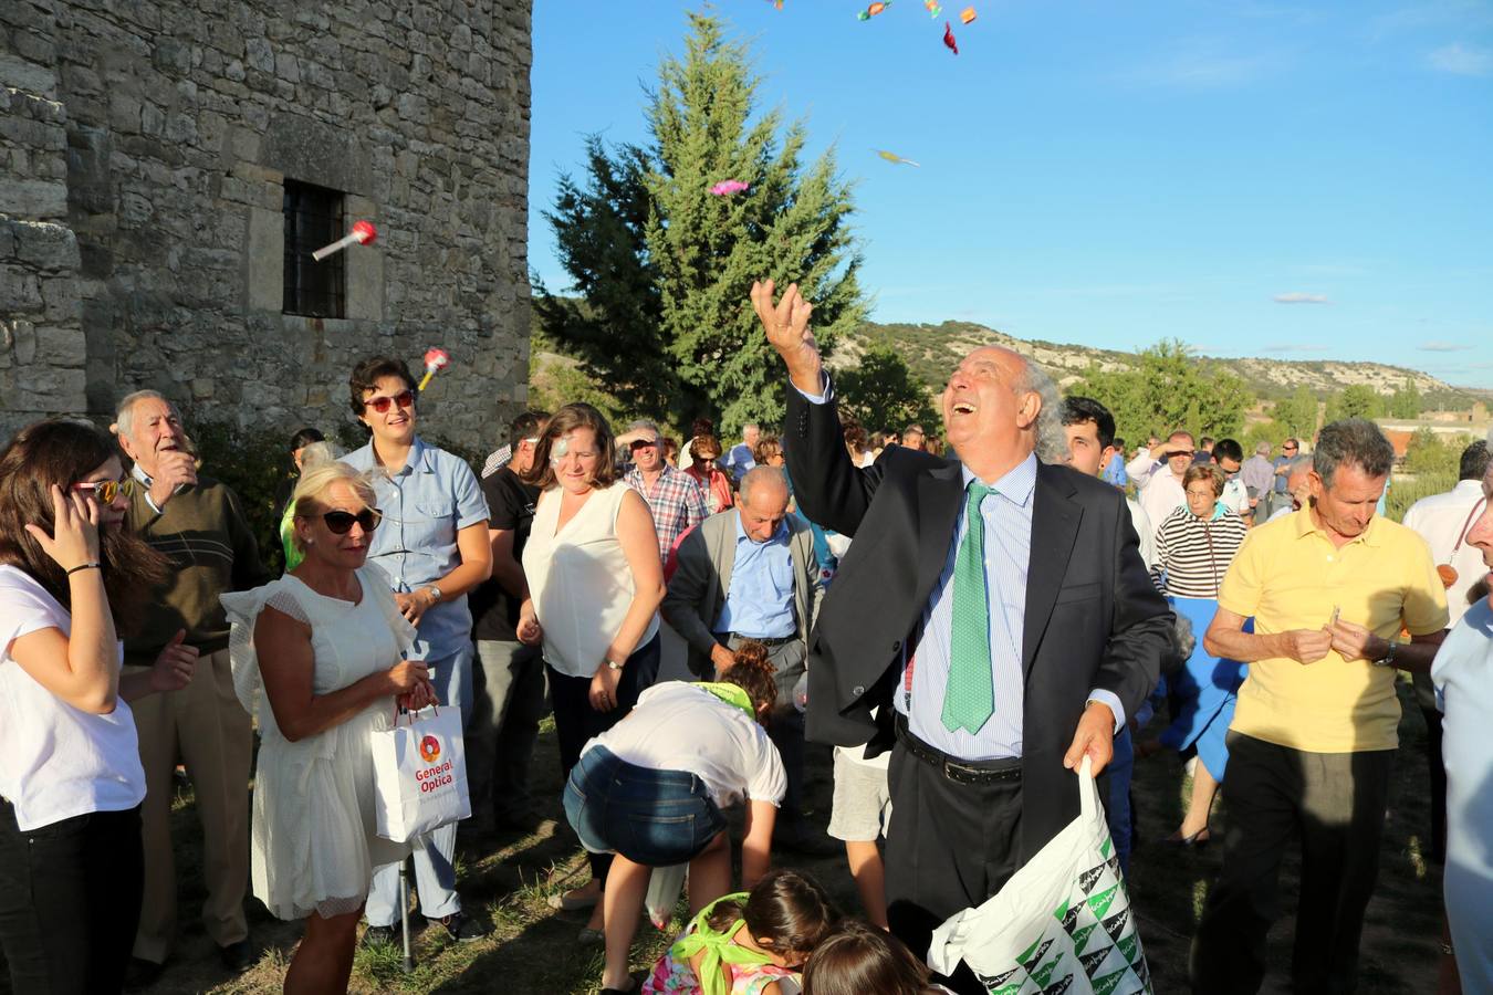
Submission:
POLYGON ((1087 756, 1078 791, 1078 817, 999 895, 933 932, 935 971, 951 974, 964 961, 990 995, 1151 995, 1130 891, 1087 756))

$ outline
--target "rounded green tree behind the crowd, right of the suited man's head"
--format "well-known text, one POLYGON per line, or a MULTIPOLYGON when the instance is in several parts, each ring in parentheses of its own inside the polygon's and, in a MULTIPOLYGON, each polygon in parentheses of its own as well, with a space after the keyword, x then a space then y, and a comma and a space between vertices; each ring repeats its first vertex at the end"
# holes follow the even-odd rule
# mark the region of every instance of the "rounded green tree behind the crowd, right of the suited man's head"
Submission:
POLYGON ((1199 436, 1238 437, 1244 412, 1254 403, 1248 385, 1226 368, 1203 364, 1175 339, 1163 339, 1139 354, 1130 370, 1090 365, 1070 388, 1105 404, 1124 439, 1160 436, 1185 428, 1199 436))

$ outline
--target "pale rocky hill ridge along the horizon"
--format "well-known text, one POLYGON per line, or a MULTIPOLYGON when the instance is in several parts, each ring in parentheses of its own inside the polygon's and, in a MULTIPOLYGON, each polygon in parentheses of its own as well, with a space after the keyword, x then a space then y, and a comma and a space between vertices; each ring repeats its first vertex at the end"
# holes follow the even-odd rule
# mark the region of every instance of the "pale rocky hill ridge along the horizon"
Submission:
MULTIPOLYGON (((860 355, 872 345, 894 348, 932 389, 941 388, 950 370, 964 354, 981 345, 1005 346, 1033 358, 1060 386, 1081 377, 1090 364, 1097 364, 1105 370, 1126 370, 1135 365, 1135 354, 1132 352, 1017 339, 967 321, 945 321, 939 325, 867 322, 836 345, 830 365, 855 365, 860 355)), ((1323 400, 1354 383, 1368 385, 1380 394, 1393 394, 1408 380, 1424 397, 1427 410, 1465 410, 1475 401, 1493 400, 1493 391, 1453 386, 1427 373, 1383 362, 1217 360, 1211 357, 1199 357, 1199 360, 1232 370, 1244 377, 1262 398, 1282 397, 1302 383, 1323 400)))

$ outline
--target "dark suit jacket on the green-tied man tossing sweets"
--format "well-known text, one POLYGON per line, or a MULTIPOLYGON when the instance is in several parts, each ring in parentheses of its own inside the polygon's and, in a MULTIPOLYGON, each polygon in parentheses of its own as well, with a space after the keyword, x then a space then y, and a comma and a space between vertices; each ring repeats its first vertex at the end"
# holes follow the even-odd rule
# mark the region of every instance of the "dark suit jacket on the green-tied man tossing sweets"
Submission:
MULTIPOLYGON (((808 737, 875 755, 891 744, 903 643, 938 583, 963 504, 960 464, 888 446, 851 465, 835 404, 788 385, 784 451, 794 495, 814 522, 853 536, 809 637, 808 737)), ((1132 716, 1171 643, 1172 613, 1141 562, 1124 495, 1069 467, 1038 465, 1021 667, 1021 861, 1078 816, 1063 753, 1090 691, 1132 716)), ((999 707, 1000 703, 997 703, 999 707)))

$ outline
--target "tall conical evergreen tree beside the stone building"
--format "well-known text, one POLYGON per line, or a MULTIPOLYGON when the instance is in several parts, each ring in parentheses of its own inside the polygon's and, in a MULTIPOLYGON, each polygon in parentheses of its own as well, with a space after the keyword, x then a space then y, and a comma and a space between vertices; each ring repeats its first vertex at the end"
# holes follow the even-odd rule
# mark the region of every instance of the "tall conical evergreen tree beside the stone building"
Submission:
POLYGON ((652 145, 609 152, 593 137, 588 181, 566 178, 545 215, 585 306, 536 280, 534 307, 621 406, 715 415, 729 436, 784 413, 782 364, 746 306, 752 280, 796 280, 827 352, 864 318, 860 254, 833 151, 803 166, 803 124, 755 116, 748 46, 727 42, 720 18, 688 18, 685 55, 663 60, 649 95, 652 145), (708 192, 724 179, 749 191, 708 192))

